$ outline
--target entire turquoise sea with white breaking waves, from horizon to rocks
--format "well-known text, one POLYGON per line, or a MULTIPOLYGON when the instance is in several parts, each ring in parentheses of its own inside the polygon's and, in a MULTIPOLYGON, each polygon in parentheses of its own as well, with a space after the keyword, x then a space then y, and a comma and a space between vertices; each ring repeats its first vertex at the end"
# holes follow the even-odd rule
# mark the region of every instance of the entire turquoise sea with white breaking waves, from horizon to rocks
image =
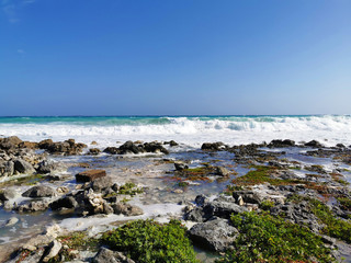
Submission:
POLYGON ((206 141, 238 145, 272 139, 316 139, 333 146, 351 144, 351 115, 0 117, 0 136, 13 135, 31 141, 95 140, 100 147, 126 140, 176 140, 199 147, 206 141))

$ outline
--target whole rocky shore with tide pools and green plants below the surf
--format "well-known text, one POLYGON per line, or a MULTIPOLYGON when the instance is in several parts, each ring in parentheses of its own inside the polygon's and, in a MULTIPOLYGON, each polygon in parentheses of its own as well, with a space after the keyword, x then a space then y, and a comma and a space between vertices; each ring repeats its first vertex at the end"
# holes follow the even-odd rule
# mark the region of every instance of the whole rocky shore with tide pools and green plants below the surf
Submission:
POLYGON ((2 138, 1 262, 351 262, 350 182, 351 146, 317 140, 2 138), (21 237, 23 215, 53 222, 21 237))

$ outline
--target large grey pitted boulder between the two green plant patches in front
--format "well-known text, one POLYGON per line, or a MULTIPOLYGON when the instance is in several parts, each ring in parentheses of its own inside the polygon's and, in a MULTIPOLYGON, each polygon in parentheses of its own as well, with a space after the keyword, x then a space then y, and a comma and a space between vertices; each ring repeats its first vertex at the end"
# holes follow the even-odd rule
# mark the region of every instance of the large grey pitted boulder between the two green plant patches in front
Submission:
POLYGON ((230 226, 228 220, 215 218, 206 222, 196 224, 190 229, 189 233, 190 238, 199 247, 223 252, 236 239, 238 230, 230 226))

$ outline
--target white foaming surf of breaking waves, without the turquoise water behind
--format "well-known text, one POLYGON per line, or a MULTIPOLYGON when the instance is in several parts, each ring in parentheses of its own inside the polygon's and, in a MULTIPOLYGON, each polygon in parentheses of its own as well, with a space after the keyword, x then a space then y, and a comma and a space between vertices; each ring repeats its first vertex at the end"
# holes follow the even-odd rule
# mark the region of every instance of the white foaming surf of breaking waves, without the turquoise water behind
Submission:
POLYGON ((76 125, 0 124, 0 135, 27 140, 76 138, 83 142, 116 140, 169 140, 197 146, 204 141, 261 142, 276 138, 320 139, 326 145, 351 142, 351 116, 169 117, 167 124, 76 125))

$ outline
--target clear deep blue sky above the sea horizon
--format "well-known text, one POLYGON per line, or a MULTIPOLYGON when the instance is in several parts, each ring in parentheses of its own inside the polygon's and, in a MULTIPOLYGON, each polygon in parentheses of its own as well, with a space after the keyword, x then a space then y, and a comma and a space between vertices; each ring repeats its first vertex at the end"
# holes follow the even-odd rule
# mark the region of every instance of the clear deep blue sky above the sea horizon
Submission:
POLYGON ((0 115, 351 114, 350 0, 0 0, 0 115))

